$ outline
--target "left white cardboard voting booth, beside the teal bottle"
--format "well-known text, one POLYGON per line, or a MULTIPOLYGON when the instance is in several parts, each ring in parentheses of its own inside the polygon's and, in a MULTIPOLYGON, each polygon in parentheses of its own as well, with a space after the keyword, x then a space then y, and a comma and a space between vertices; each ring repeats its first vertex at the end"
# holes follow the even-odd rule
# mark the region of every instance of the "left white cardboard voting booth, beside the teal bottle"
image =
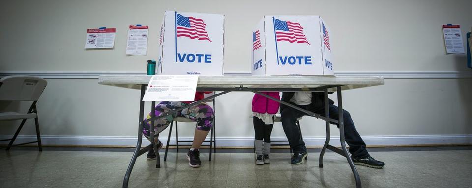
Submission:
POLYGON ((166 11, 156 74, 223 75, 224 15, 166 11))

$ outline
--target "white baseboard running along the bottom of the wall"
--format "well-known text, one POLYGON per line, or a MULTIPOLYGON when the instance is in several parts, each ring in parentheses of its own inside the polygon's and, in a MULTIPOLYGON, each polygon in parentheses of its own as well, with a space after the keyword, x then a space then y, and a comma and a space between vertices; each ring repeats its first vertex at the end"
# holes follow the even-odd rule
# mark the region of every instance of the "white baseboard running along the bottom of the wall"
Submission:
MULTIPOLYGON (((11 138, 11 135, 0 135, 0 140, 11 138)), ((209 137, 208 137, 209 138, 209 137)), ((400 136, 363 136, 367 145, 449 145, 449 144, 472 144, 472 135, 400 135, 400 136)), ((160 140, 166 143, 167 138, 160 140)), ((179 137, 180 141, 192 141, 191 137, 179 137)), ((273 141, 286 140, 283 137, 273 137, 273 141)), ((304 137, 303 140, 308 147, 321 147, 325 137, 304 137)), ((20 135, 15 143, 36 141, 36 136, 20 135)), ((137 137, 119 136, 41 136, 43 145, 86 145, 86 146, 136 146, 137 137)), ((7 144, 7 141, 1 144, 7 144)), ((175 137, 171 137, 171 143, 175 143, 175 137)), ((143 146, 149 141, 143 139, 143 146)), ((252 137, 217 137, 217 147, 251 147, 254 144, 252 137)), ((339 146, 339 137, 331 137, 330 144, 339 146)))

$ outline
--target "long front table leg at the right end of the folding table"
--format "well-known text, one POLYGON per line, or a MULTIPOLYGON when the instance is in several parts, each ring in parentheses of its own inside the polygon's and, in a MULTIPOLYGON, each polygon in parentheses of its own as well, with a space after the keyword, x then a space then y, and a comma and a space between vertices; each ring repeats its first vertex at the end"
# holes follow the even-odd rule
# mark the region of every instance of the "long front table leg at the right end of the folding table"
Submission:
POLYGON ((362 188, 361 183, 360 183, 359 173, 357 173, 357 169, 354 166, 353 160, 351 159, 351 156, 349 155, 349 152, 346 149, 346 142, 344 140, 344 118, 343 118, 344 113, 343 113, 343 103, 342 103, 342 98, 341 98, 341 86, 336 87, 336 93, 338 94, 338 108, 339 108, 338 123, 339 123, 339 139, 341 141, 341 148, 343 149, 344 156, 348 160, 349 166, 351 167, 351 170, 354 173, 356 188, 362 188))

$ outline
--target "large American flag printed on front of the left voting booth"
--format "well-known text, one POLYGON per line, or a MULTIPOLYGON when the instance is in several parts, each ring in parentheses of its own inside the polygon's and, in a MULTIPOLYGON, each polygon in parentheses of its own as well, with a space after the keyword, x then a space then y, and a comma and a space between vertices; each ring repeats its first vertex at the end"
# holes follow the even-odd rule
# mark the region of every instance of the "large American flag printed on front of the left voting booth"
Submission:
POLYGON ((207 24, 202 19, 185 17, 177 14, 176 32, 177 37, 188 37, 190 39, 208 40, 211 42, 205 27, 207 24))

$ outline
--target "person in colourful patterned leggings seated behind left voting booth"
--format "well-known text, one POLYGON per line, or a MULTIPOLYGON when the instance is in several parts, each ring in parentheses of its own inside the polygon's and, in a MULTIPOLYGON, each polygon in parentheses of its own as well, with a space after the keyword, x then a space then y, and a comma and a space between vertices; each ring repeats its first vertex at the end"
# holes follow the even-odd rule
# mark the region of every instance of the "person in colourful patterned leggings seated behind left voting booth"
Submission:
MULTIPOLYGON (((194 101, 204 99, 204 94, 211 94, 213 92, 196 92, 194 101)), ((160 116, 163 113, 175 110, 179 107, 186 106, 194 101, 185 101, 185 102, 160 102, 155 107, 155 116, 160 116)), ((151 113, 148 114, 146 119, 151 118, 151 113)), ((162 117, 156 119, 154 122, 154 140, 157 144, 157 148, 162 147, 162 142, 159 141, 159 133, 162 132, 169 126, 174 118, 177 116, 189 118, 197 122, 197 127, 195 128, 195 135, 193 137, 193 142, 190 150, 185 155, 189 161, 189 165, 194 168, 200 167, 202 161, 200 161, 200 146, 202 145, 209 131, 211 130, 211 125, 213 124, 214 115, 213 109, 205 102, 202 102, 196 106, 185 108, 183 110, 177 111, 177 113, 171 114, 167 117, 162 117)), ((151 122, 146 122, 143 125, 143 134, 150 141, 150 127, 151 122)), ((154 150, 149 150, 147 155, 148 160, 155 160, 156 154, 154 150)))

